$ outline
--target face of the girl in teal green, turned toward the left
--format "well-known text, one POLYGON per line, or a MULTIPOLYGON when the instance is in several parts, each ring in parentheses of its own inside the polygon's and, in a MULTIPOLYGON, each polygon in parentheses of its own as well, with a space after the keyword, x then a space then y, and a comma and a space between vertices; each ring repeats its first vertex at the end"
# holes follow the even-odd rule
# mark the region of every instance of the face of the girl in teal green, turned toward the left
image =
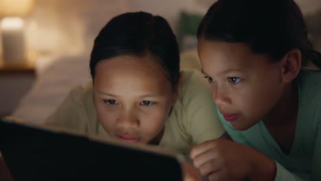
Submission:
POLYGON ((198 55, 213 99, 226 121, 247 130, 263 119, 281 97, 281 64, 244 43, 200 40, 198 55))

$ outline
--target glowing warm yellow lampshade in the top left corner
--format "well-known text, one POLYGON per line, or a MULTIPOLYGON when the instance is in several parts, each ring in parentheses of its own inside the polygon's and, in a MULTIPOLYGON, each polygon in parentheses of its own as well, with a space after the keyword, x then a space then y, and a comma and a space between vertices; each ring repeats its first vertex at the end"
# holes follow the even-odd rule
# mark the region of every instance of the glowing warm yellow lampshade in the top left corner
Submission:
POLYGON ((0 0, 0 16, 25 16, 33 6, 34 0, 0 0))

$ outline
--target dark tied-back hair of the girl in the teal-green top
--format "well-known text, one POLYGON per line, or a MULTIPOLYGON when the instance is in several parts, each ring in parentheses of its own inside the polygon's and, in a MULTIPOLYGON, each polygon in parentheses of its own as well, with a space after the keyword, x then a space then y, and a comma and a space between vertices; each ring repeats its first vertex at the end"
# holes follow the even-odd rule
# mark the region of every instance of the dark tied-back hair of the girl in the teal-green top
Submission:
POLYGON ((321 56, 307 36, 302 12, 293 0, 219 0, 198 27, 198 39, 246 43, 256 53, 281 60, 299 49, 302 66, 311 60, 321 68, 321 56))

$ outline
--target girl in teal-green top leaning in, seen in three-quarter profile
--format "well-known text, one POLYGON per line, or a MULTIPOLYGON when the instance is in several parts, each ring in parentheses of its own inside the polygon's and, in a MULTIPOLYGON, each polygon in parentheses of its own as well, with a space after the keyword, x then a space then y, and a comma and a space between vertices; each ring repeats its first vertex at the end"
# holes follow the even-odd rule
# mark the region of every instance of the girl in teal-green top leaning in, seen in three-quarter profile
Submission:
POLYGON ((198 55, 233 141, 206 141, 193 163, 209 180, 321 180, 321 56, 293 0, 219 0, 198 55))

